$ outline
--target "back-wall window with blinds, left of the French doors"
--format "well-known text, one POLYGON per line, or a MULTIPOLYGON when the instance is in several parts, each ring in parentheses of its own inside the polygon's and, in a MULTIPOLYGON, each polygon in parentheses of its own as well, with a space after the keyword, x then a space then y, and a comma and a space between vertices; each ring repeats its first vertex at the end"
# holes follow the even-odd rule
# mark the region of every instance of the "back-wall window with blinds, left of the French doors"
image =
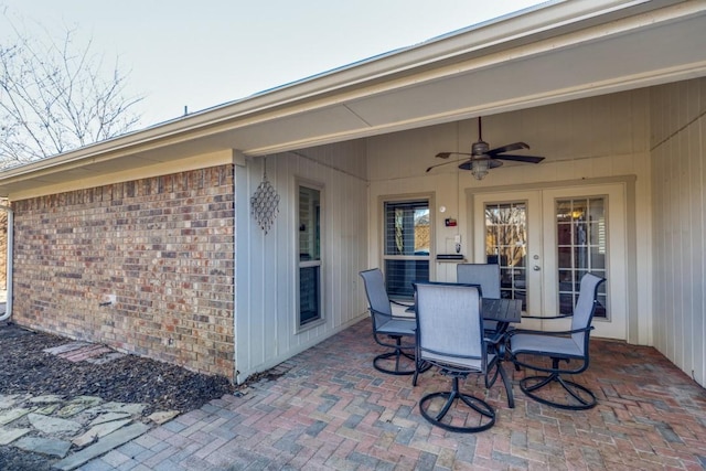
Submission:
POLYGON ((383 259, 387 293, 392 298, 411 299, 411 283, 429 280, 429 201, 385 202, 384 218, 383 259))

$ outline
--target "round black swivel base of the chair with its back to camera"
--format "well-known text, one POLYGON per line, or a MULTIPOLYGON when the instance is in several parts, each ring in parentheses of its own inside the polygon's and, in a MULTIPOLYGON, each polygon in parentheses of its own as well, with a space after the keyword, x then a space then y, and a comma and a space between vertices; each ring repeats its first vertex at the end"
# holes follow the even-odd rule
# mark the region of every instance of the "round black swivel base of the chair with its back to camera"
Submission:
POLYGON ((445 430, 466 432, 466 433, 488 430, 495 424, 495 411, 484 400, 478 397, 462 394, 459 390, 459 377, 460 375, 452 376, 451 390, 428 394, 424 396, 421 400, 419 400, 419 411, 421 413, 421 416, 432 425, 440 427, 445 430), (429 410, 429 408, 431 405, 430 403, 435 398, 442 398, 442 399, 446 399, 446 402, 437 414, 431 415, 431 411, 429 410), (453 403, 456 403, 458 399, 460 399, 463 404, 470 407, 471 410, 478 414, 479 416, 478 426, 461 427, 461 426, 453 426, 450 422, 442 421, 442 419, 449 413, 449 409, 451 408, 453 403))

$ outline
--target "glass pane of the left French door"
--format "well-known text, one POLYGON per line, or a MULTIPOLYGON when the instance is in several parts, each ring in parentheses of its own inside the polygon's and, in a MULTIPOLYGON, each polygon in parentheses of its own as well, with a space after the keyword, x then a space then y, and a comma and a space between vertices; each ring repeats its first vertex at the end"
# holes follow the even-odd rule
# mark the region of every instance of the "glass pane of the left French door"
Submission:
POLYGON ((485 205, 485 261, 500 264, 501 296, 527 306, 527 204, 485 205))

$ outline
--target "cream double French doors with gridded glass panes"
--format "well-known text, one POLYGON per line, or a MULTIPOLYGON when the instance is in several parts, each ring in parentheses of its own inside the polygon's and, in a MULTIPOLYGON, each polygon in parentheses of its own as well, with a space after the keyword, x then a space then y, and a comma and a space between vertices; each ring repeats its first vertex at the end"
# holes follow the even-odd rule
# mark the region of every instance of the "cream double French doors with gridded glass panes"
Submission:
POLYGON ((599 290, 593 334, 627 340, 625 197, 622 183, 477 193, 473 258, 501 265, 505 298, 523 300, 523 328, 568 328, 581 276, 599 290), (550 323, 549 323, 550 322, 550 323))

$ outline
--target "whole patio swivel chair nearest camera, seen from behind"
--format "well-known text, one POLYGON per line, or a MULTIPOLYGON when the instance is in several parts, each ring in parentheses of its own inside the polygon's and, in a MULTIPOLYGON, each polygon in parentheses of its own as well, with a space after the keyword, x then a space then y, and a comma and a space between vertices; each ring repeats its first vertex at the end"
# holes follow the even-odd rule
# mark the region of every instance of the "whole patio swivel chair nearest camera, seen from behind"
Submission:
MULTIPOLYGON (((459 381, 470 374, 483 375, 485 387, 491 387, 500 371, 509 404, 512 402, 512 388, 506 382, 500 357, 485 344, 479 287, 439 282, 419 282, 414 287, 417 365, 438 366, 441 374, 451 378, 451 390, 427 394, 419 400, 421 416, 445 430, 475 432, 491 428, 495 424, 493 408, 480 397, 459 389, 459 381), (499 370, 491 381, 489 372, 493 367, 499 370), (451 409, 459 402, 470 409, 451 409)), ((417 377, 415 374, 414 386, 417 385, 417 377)))

